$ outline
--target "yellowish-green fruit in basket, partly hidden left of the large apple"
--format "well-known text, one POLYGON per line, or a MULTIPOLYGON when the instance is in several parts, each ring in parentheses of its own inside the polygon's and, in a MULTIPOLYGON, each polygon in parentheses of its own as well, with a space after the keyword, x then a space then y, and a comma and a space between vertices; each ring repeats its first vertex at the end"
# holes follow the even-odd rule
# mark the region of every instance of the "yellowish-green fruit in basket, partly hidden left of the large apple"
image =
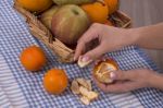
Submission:
POLYGON ((52 16, 58 11, 58 9, 59 7, 53 5, 51 9, 43 12, 40 16, 40 21, 50 29, 51 29, 52 16))

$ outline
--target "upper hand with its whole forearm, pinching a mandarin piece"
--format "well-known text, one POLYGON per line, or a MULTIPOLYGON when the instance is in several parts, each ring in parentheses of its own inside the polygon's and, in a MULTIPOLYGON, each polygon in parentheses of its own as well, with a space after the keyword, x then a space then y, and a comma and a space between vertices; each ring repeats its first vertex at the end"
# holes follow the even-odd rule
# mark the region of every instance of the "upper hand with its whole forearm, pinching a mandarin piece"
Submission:
POLYGON ((86 44, 98 38, 100 45, 86 52, 84 61, 91 61, 108 51, 114 51, 128 45, 138 45, 142 48, 163 49, 163 23, 139 28, 117 28, 95 23, 78 40, 75 57, 77 60, 86 49, 86 44))

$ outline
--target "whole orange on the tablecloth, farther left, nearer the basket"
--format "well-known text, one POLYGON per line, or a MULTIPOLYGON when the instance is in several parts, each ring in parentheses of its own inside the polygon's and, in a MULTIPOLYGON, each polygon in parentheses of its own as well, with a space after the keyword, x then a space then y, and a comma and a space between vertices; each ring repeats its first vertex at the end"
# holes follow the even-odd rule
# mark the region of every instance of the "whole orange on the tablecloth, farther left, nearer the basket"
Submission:
POLYGON ((46 56, 37 46, 30 46, 21 52, 21 63, 28 71, 38 71, 46 64, 46 56))

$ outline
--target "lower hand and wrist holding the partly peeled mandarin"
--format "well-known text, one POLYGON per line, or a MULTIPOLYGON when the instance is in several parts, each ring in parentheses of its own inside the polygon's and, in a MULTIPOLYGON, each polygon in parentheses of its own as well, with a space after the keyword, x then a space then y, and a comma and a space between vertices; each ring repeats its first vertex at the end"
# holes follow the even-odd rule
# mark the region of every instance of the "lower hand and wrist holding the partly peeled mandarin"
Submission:
POLYGON ((105 93, 124 93, 142 87, 156 87, 163 89, 163 76, 154 71, 140 69, 130 71, 111 72, 113 84, 102 84, 95 77, 95 83, 105 93))

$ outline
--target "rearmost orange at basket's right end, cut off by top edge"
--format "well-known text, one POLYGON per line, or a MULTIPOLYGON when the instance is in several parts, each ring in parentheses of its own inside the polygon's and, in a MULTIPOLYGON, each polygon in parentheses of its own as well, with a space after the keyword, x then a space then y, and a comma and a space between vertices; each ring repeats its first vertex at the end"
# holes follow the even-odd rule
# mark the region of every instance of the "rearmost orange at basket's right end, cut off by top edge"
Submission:
POLYGON ((118 0, 104 0, 104 2, 106 3, 110 10, 109 14, 114 13, 118 9, 118 0))

